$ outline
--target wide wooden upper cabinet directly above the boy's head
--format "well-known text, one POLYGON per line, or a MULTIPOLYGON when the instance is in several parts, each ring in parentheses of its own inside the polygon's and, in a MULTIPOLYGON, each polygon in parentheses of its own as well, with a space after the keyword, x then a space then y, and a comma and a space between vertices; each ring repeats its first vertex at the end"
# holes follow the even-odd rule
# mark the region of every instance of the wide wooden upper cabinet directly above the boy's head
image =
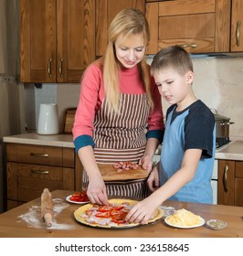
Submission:
POLYGON ((147 52, 155 54, 171 45, 191 53, 228 52, 230 9, 230 0, 147 1, 152 36, 147 52))

